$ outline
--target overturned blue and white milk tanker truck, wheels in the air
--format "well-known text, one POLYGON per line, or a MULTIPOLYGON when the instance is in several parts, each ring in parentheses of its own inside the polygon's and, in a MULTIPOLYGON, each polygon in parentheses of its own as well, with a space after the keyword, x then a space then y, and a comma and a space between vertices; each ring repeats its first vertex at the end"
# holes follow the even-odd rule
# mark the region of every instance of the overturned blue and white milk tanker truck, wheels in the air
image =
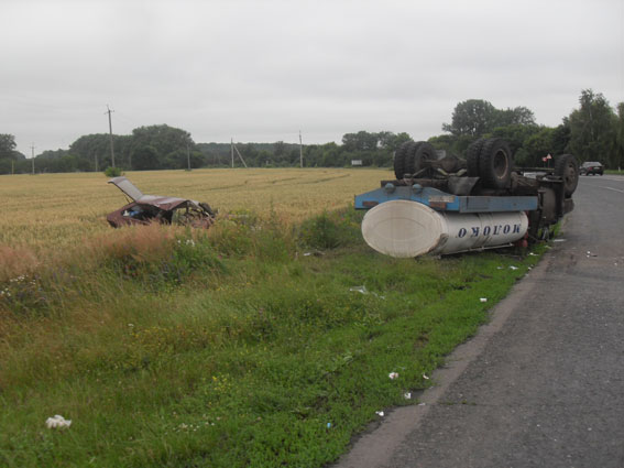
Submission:
POLYGON ((355 196, 366 209, 362 235, 374 250, 397 258, 526 246, 547 239, 573 209, 579 165, 571 154, 554 167, 514 166, 508 143, 481 139, 466 157, 427 142, 404 143, 394 156, 394 181, 355 196))

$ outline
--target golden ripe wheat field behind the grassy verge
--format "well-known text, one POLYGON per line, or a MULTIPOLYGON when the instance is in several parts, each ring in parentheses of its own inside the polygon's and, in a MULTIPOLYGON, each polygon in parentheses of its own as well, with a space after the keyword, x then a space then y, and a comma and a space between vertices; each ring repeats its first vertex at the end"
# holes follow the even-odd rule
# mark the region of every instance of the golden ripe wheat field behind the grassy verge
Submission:
MULTIPOLYGON (((273 209, 297 221, 348 206, 387 170, 218 168, 130 172, 144 194, 206 202, 221 213, 273 209)), ((101 173, 0 176, 0 247, 58 250, 111 232, 106 215, 127 203, 101 173)))

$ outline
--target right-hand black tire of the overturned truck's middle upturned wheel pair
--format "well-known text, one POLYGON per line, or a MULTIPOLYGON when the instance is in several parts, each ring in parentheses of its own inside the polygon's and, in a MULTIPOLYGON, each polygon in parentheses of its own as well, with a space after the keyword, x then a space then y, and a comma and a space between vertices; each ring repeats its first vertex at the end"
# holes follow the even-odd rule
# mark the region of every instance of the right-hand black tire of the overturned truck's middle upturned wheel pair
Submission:
POLYGON ((513 157, 507 142, 501 138, 485 140, 479 156, 479 176, 489 188, 508 188, 513 157))

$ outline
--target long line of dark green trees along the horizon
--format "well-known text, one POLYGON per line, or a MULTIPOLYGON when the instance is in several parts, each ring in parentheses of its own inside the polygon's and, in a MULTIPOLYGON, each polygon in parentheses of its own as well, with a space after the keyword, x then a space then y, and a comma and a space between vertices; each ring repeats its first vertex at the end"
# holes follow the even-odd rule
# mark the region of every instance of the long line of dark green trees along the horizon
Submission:
MULTIPOLYGON (((497 109, 482 99, 459 102, 444 134, 429 142, 438 150, 463 155, 479 138, 506 139, 515 153, 516 164, 539 166, 547 154, 574 154, 579 161, 600 161, 611 168, 624 163, 624 102, 612 108, 600 92, 581 91, 579 108, 557 127, 539 126, 526 107, 497 109)), ((393 153, 412 138, 406 132, 358 131, 335 142, 303 146, 307 167, 343 167, 358 161, 362 166, 392 166, 393 153)), ((112 165, 111 139, 107 133, 84 135, 67 150, 44 151, 35 157, 36 172, 92 172, 112 165)), ((190 133, 167 124, 140 127, 130 135, 113 135, 116 165, 123 170, 227 167, 232 164, 230 143, 196 143, 190 133)), ((14 137, 0 134, 0 174, 29 173, 32 162, 15 151, 14 137)), ((298 144, 237 143, 239 153, 251 167, 298 166, 298 144)))

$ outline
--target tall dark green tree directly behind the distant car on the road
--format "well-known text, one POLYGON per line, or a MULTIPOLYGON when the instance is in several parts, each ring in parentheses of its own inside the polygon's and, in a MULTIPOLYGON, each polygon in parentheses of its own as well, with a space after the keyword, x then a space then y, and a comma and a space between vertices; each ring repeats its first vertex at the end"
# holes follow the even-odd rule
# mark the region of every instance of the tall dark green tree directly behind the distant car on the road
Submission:
POLYGON ((569 117, 570 151, 581 161, 616 165, 617 117, 602 94, 583 89, 569 117))

